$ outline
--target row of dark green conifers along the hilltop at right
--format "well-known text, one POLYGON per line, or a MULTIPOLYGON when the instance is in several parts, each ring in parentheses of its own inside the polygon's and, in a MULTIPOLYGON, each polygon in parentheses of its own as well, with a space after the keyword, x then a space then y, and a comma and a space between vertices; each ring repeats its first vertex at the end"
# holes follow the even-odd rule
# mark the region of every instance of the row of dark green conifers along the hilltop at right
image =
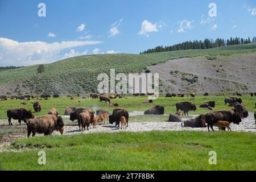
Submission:
POLYGON ((186 41, 179 44, 174 44, 173 46, 158 46, 152 49, 147 49, 146 51, 140 52, 139 54, 143 53, 154 53, 154 52, 166 52, 166 51, 177 51, 177 50, 185 50, 185 49, 209 49, 214 47, 222 47, 222 46, 230 46, 230 45, 241 45, 241 44, 249 44, 255 43, 256 37, 254 36, 251 40, 250 37, 243 39, 243 38, 230 38, 230 39, 221 39, 217 38, 216 40, 213 39, 204 39, 202 40, 194 40, 186 41))

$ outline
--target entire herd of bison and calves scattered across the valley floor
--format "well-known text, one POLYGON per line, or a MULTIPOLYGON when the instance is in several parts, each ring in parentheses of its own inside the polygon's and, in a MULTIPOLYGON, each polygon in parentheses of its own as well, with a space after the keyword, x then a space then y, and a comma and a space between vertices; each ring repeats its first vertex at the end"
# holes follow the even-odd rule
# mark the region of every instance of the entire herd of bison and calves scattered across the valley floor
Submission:
MULTIPOLYGON (((251 96, 254 96, 255 93, 251 93, 251 96)), ((141 94, 133 94, 134 96, 139 96, 141 94)), ((237 95, 240 95, 237 93, 237 95)), ((256 95, 256 94, 255 94, 256 95)), ((195 93, 190 94, 191 97, 195 97, 195 93)), ((204 96, 209 96, 208 93, 205 93, 204 96)), ((48 99, 51 96, 48 94, 43 94, 40 98, 48 99)), ((58 94, 54 94, 53 98, 60 97, 58 94)), ((67 97, 73 98, 70 95, 67 97)), ((90 97, 95 99, 99 98, 100 102, 105 101, 108 106, 118 106, 118 104, 112 104, 110 99, 122 98, 122 94, 115 94, 114 96, 108 96, 108 94, 90 94, 90 97)), ((166 94, 166 97, 184 97, 184 94, 166 94)), ((7 97, 0 96, 1 100, 6 100, 7 97)), ((34 96, 11 96, 12 99, 23 99, 29 100, 30 98, 35 98, 34 96)), ((42 110, 40 104, 40 98, 36 99, 36 102, 32 103, 35 113, 40 112, 42 110)), ((86 97, 83 97, 86 98, 86 97)), ((142 103, 152 103, 152 100, 144 100, 142 103)), ((241 98, 237 97, 229 97, 224 99, 224 104, 229 104, 229 106, 233 106, 234 109, 229 110, 220 110, 220 111, 212 111, 208 114, 201 114, 197 117, 189 118, 184 122, 181 122, 181 119, 177 115, 188 115, 189 111, 196 111, 197 107, 195 104, 191 102, 180 102, 172 106, 176 106, 175 115, 169 115, 169 122, 181 122, 181 126, 184 127, 208 127, 208 131, 212 129, 214 131, 213 126, 219 128, 219 130, 230 129, 230 123, 234 123, 239 125, 242 122, 243 118, 248 117, 248 112, 245 109, 244 105, 241 105, 241 98)), ((205 107, 209 110, 214 110, 216 105, 215 101, 208 101, 201 104, 199 107, 205 107)), ((256 106, 256 104, 255 104, 256 106)), ((31 110, 18 108, 18 109, 9 109, 6 111, 9 125, 13 125, 11 123, 11 119, 18 120, 21 125, 21 121, 24 121, 27 124, 27 137, 34 137, 36 133, 43 133, 44 135, 52 134, 53 131, 59 131, 60 134, 64 133, 64 122, 63 119, 58 116, 57 110, 52 108, 49 110, 47 115, 43 115, 41 117, 35 118, 35 114, 32 113, 31 110)), ((128 127, 129 122, 129 113, 125 109, 114 109, 112 113, 105 110, 97 110, 96 113, 94 110, 85 108, 85 107, 67 107, 65 110, 65 115, 69 115, 70 121, 77 120, 79 130, 84 131, 85 129, 89 130, 90 125, 93 125, 93 128, 97 127, 97 124, 104 125, 107 121, 110 124, 115 123, 115 126, 119 127, 121 123, 121 129, 126 129, 128 127)), ((163 115, 164 107, 156 105, 151 109, 144 111, 144 114, 155 114, 155 115, 163 115)), ((254 113, 254 118, 256 122, 256 112, 254 113)))

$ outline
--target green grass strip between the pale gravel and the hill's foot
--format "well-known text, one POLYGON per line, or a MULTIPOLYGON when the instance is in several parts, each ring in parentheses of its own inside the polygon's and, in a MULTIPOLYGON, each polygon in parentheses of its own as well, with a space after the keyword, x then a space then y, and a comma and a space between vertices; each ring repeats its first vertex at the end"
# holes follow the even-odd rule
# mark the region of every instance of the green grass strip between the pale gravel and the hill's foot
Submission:
MULTIPOLYGON (((152 104, 142 104, 143 100, 147 99, 147 96, 139 96, 139 97, 131 97, 126 96, 122 99, 115 99, 112 100, 113 103, 118 103, 119 107, 122 109, 126 109, 127 111, 146 111, 147 109, 150 109, 151 107, 154 107, 155 105, 161 105, 164 106, 164 113, 165 114, 174 114, 176 111, 175 104, 177 102, 184 102, 184 101, 190 101, 193 104, 196 104, 197 110, 191 111, 189 114, 205 114, 209 113, 210 110, 206 108, 199 107, 201 104, 207 101, 216 101, 216 107, 215 110, 222 110, 222 109, 232 109, 233 107, 228 107, 228 105, 224 105, 224 98, 229 96, 196 96, 195 98, 191 97, 171 97, 171 98, 165 98, 165 97, 159 97, 157 100, 154 100, 152 104)), ((254 97, 250 96, 242 96, 242 104, 246 105, 246 109, 248 111, 254 112, 255 109, 255 99, 254 97)), ((34 100, 26 101, 27 105, 20 104, 20 100, 7 100, 7 101, 0 101, 0 118, 6 119, 6 110, 8 109, 15 109, 18 107, 24 107, 26 109, 31 109, 34 111, 32 102, 35 102, 34 100)), ((40 113, 36 113, 36 116, 47 114, 48 111, 55 107, 59 114, 64 114, 65 108, 67 106, 75 106, 75 107, 88 107, 93 109, 94 111, 98 109, 104 109, 107 111, 113 111, 116 107, 109 107, 106 106, 105 102, 99 102, 99 100, 93 100, 93 99, 86 99, 82 100, 79 97, 75 97, 75 100, 70 100, 70 98, 67 97, 60 97, 60 98, 50 98, 50 100, 42 100, 40 101, 42 105, 42 111, 40 113), (80 103, 76 103, 76 101, 80 100, 80 103)), ((6 121, 7 122, 7 121, 6 121)))

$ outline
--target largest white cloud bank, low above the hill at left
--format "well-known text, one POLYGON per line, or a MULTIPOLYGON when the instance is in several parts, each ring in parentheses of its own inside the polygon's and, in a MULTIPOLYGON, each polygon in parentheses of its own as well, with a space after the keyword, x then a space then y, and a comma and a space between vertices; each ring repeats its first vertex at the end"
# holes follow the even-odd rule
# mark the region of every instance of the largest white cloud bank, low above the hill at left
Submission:
POLYGON ((65 51, 65 49, 100 43, 98 41, 18 42, 0 38, 0 65, 52 63, 63 59, 65 55, 61 55, 61 51, 65 51))

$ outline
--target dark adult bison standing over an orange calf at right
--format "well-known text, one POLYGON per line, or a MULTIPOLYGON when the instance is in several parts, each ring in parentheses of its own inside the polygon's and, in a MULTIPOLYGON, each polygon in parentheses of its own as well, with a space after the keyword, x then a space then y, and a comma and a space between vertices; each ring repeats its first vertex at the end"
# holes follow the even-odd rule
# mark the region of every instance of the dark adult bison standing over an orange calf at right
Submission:
POLYGON ((239 123, 242 121, 240 114, 236 113, 234 110, 220 110, 220 111, 214 111, 212 113, 208 113, 205 115, 205 122, 209 127, 213 130, 213 123, 216 123, 218 121, 228 121, 233 122, 239 125, 239 123))

